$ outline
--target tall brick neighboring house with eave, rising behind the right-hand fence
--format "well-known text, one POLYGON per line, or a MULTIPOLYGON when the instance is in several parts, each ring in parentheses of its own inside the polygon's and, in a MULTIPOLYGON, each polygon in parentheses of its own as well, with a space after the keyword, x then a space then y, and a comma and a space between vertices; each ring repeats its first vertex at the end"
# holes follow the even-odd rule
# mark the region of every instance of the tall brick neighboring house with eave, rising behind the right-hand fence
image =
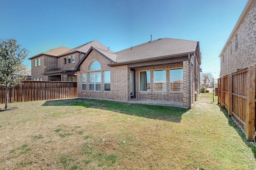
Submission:
POLYGON ((256 0, 248 0, 220 58, 221 77, 256 64, 256 0))

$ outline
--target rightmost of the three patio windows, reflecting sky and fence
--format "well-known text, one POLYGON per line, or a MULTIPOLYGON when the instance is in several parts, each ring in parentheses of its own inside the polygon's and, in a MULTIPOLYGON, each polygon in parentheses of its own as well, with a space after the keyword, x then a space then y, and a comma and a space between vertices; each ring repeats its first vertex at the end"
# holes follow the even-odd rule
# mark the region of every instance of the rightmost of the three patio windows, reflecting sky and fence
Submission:
POLYGON ((170 70, 170 91, 183 92, 183 69, 170 70))

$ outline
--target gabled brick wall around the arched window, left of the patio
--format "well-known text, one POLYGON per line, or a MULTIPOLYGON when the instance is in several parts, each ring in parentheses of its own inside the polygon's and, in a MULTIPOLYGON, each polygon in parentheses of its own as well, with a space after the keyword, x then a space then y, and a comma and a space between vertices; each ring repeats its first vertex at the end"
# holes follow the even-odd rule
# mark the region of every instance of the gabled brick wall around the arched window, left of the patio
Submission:
MULTIPOLYGON (((128 68, 127 66, 113 66, 110 67, 110 61, 92 50, 90 54, 86 57, 84 62, 80 66, 80 71, 77 72, 77 86, 78 86, 78 98, 97 98, 97 99, 107 99, 107 100, 120 100, 127 101, 130 97, 128 95, 128 89, 130 86, 128 84, 128 68), (101 66, 101 91, 94 92, 89 91, 89 80, 88 76, 90 72, 99 72, 99 71, 88 71, 89 66, 93 61, 97 61, 101 66), (103 72, 110 71, 110 84, 111 91, 104 92, 104 84, 103 84, 103 72), (87 74, 87 89, 86 91, 82 91, 82 74, 87 74)), ((130 75, 130 74, 129 74, 130 75)))

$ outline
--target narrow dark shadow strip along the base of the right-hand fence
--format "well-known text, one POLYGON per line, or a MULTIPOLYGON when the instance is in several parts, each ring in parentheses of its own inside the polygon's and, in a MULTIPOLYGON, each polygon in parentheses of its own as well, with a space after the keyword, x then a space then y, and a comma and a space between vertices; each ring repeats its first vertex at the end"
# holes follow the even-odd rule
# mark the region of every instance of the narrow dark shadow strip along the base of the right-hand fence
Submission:
POLYGON ((244 132, 238 127, 238 125, 236 125, 236 123, 232 120, 232 117, 228 115, 228 111, 224 108, 221 107, 220 105, 218 105, 220 107, 220 111, 222 111, 222 113, 224 113, 224 115, 226 116, 226 118, 228 119, 228 125, 230 125, 231 127, 233 127, 234 129, 236 129, 236 131, 238 132, 238 135, 241 137, 241 139, 244 141, 244 143, 252 149, 252 152, 254 154, 254 158, 256 158, 256 147, 254 147, 253 145, 250 144, 250 141, 248 141, 246 139, 246 136, 244 134, 244 132))

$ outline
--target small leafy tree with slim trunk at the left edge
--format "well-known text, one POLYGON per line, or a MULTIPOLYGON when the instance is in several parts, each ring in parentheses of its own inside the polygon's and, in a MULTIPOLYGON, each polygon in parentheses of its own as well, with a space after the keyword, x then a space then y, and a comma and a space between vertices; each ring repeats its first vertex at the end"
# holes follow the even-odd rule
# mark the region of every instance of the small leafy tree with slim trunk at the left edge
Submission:
POLYGON ((0 40, 0 86, 6 89, 5 109, 8 109, 9 89, 27 77, 22 62, 28 56, 28 50, 20 46, 16 39, 0 40))

